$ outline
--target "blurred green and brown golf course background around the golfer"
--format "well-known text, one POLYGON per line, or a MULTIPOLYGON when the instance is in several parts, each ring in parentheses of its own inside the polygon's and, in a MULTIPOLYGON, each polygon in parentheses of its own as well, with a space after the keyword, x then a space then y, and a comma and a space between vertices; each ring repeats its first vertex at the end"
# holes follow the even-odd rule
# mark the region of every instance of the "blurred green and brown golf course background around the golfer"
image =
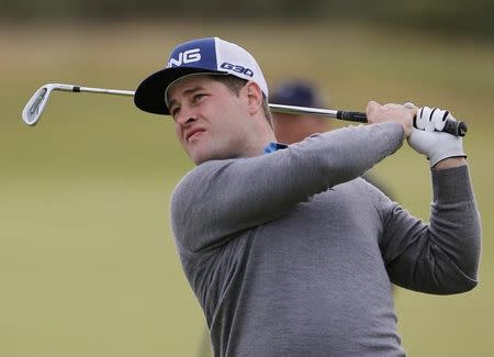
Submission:
MULTIPOLYGON (((0 0, 0 356, 209 355, 169 228, 171 190, 193 167, 170 120, 131 98, 54 92, 37 126, 21 121, 46 82, 134 90, 204 36, 244 46, 272 86, 314 81, 332 109, 413 101, 470 124, 480 285, 398 289, 395 305, 409 356, 494 355, 493 15, 487 0, 0 0)), ((404 145, 373 172, 428 219, 424 157, 404 145)))

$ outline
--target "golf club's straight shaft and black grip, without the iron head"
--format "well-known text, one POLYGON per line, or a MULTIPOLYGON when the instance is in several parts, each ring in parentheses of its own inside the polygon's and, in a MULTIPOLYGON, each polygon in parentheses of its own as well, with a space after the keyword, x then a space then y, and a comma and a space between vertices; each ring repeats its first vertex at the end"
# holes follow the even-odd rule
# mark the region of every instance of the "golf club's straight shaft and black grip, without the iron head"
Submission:
MULTIPOLYGON (((71 92, 91 92, 91 93, 103 93, 103 94, 114 94, 114 96, 126 96, 133 97, 135 91, 133 90, 122 90, 122 89, 106 89, 106 88, 93 88, 93 87, 81 87, 74 85, 57 85, 55 90, 71 91, 71 92)), ((324 118, 335 118, 339 120, 367 123, 366 113, 352 112, 352 111, 341 111, 332 109, 321 109, 321 108, 308 108, 308 107, 295 107, 295 105, 283 105, 283 104, 272 104, 269 103, 271 111, 277 113, 288 113, 288 114, 310 114, 324 118)), ((447 120, 446 125, 442 130, 451 135, 464 136, 467 134, 467 124, 461 121, 447 120)))

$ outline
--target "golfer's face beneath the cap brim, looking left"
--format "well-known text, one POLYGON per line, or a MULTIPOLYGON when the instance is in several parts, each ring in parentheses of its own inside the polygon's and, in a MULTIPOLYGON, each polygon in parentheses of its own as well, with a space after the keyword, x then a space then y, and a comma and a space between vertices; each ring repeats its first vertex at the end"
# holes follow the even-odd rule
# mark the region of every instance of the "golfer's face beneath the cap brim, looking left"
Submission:
POLYGON ((195 164, 242 156, 245 100, 207 76, 190 76, 168 90, 176 134, 195 164))

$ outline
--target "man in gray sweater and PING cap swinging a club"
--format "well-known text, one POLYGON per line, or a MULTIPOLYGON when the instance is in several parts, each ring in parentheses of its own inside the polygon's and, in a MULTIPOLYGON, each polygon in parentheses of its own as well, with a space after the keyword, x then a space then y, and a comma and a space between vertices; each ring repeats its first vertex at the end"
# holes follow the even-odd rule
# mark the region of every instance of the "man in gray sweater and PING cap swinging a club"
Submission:
POLYGON ((171 224, 215 356, 404 356, 391 282, 437 294, 478 282, 461 138, 414 130, 413 105, 370 102, 371 125, 278 149, 267 100, 254 57, 217 37, 177 46, 135 96, 171 114, 198 165, 171 224), (429 224, 359 178, 404 138, 433 167, 429 224))

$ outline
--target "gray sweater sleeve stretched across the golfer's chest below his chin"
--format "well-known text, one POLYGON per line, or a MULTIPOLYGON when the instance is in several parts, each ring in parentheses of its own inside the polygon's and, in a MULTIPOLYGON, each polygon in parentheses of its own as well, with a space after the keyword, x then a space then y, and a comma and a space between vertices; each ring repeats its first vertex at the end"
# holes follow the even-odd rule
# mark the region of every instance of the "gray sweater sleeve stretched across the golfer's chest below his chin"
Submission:
POLYGON ((314 135, 268 155, 201 164, 182 178, 171 198, 177 244, 190 252, 216 247, 362 175, 402 143, 400 124, 360 125, 314 135))

